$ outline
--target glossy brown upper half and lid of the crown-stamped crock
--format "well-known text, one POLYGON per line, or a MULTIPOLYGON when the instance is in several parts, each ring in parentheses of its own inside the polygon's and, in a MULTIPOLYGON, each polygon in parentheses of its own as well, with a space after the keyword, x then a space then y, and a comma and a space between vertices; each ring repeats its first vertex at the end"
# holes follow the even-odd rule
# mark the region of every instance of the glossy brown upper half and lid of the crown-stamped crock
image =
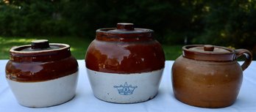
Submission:
POLYGON ((160 70, 165 56, 152 30, 119 23, 117 29, 96 31, 96 40, 90 43, 85 62, 90 70, 129 74, 160 70))

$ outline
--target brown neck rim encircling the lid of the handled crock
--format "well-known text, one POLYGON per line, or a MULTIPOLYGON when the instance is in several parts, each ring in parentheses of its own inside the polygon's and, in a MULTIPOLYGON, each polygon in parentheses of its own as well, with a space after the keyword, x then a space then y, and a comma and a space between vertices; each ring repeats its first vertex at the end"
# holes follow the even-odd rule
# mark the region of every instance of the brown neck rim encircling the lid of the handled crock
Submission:
POLYGON ((200 52, 200 51, 190 51, 189 48, 193 47, 204 47, 204 45, 185 45, 182 47, 182 56, 188 59, 202 60, 202 61, 234 61, 235 60, 235 50, 231 48, 225 48, 222 46, 213 45, 214 48, 222 48, 224 50, 230 51, 229 53, 216 53, 216 52, 200 52))

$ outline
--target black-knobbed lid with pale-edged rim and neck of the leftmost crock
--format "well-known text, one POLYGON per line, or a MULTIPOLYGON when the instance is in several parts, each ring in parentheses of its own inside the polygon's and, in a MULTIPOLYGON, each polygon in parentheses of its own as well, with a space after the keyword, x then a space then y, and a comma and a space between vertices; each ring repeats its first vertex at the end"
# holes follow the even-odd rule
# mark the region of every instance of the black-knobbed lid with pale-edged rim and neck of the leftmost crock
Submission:
POLYGON ((55 61, 68 56, 71 56, 69 45, 49 44, 48 40, 34 40, 31 45, 10 49, 10 60, 13 61, 55 61))

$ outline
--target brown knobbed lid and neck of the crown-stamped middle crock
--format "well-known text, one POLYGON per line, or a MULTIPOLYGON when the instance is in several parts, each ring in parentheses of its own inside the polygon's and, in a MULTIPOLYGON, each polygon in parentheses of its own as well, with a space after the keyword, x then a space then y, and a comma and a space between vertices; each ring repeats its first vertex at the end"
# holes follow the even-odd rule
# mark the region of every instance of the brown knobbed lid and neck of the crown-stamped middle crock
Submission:
POLYGON ((141 41, 153 37, 152 29, 134 28, 133 23, 117 23, 116 28, 96 30, 97 40, 141 41))

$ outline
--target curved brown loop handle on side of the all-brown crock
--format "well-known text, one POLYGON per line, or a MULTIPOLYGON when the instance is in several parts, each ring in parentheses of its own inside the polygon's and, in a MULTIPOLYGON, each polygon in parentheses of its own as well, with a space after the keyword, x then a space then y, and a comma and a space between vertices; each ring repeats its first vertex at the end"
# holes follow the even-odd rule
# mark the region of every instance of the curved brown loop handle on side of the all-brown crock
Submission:
POLYGON ((238 59, 238 57, 245 55, 246 60, 242 64, 242 70, 246 70, 246 68, 251 64, 252 62, 252 53, 246 49, 236 49, 235 50, 235 59, 238 59))

